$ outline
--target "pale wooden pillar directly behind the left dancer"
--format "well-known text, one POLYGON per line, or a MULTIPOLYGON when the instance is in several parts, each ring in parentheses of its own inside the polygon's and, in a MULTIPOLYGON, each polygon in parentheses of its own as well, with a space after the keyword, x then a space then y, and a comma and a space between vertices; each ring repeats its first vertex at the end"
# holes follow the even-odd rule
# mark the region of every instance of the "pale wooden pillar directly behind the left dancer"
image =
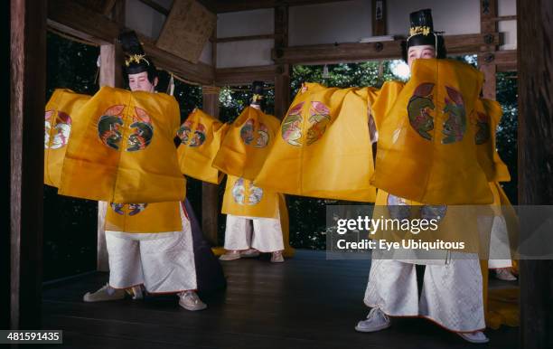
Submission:
MULTIPOLYGON (((117 19, 119 28, 125 26, 125 1, 117 0, 113 7, 112 17, 117 19)), ((116 42, 104 44, 100 46, 100 67, 99 67, 99 86, 111 86, 123 88, 123 72, 121 66, 123 64, 123 52, 120 45, 116 42)), ((104 224, 108 203, 98 202, 98 242, 97 242, 97 259, 96 269, 98 271, 109 271, 108 248, 106 246, 106 232, 104 224)))

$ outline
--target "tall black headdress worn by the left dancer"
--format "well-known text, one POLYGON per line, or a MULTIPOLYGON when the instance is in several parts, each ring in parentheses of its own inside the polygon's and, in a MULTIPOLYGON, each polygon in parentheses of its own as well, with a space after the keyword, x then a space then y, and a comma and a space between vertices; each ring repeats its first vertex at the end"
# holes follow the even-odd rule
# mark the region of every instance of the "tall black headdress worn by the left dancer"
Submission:
POLYGON ((136 37, 136 33, 134 31, 120 33, 119 42, 121 43, 123 52, 125 52, 123 70, 126 75, 147 71, 148 80, 154 83, 157 70, 155 69, 154 62, 146 57, 142 44, 140 44, 140 41, 136 37))

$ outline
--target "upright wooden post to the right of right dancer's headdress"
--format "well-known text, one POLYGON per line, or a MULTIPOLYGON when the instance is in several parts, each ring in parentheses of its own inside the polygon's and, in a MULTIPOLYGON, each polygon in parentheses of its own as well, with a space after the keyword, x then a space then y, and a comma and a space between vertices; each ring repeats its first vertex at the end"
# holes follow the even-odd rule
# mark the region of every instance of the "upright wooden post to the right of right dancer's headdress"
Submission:
POLYGON ((484 35, 484 42, 490 41, 481 47, 481 53, 478 54, 478 66, 484 74, 483 97, 485 99, 496 99, 496 80, 495 73, 497 65, 495 63, 495 52, 497 46, 492 44, 492 34, 497 33, 497 0, 480 1, 480 33, 484 35))

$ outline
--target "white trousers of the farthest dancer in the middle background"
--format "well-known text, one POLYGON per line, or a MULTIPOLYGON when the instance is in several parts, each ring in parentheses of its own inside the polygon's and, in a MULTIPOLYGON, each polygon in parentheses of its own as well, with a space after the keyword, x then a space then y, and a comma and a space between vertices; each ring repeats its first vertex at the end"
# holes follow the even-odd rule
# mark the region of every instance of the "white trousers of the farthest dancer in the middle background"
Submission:
POLYGON ((227 214, 225 250, 261 252, 284 250, 280 218, 244 217, 227 214), (253 223, 253 231, 252 224, 253 223))

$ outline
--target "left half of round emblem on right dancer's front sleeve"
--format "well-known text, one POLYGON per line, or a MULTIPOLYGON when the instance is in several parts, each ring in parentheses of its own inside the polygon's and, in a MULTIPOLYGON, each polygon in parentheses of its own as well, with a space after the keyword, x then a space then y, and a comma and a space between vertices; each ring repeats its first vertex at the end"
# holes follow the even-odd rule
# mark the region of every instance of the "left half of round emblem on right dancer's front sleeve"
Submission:
POLYGON ((408 102, 409 124, 427 140, 432 140, 429 131, 434 129, 434 118, 429 114, 430 110, 436 108, 431 96, 433 89, 434 83, 421 83, 408 102))

